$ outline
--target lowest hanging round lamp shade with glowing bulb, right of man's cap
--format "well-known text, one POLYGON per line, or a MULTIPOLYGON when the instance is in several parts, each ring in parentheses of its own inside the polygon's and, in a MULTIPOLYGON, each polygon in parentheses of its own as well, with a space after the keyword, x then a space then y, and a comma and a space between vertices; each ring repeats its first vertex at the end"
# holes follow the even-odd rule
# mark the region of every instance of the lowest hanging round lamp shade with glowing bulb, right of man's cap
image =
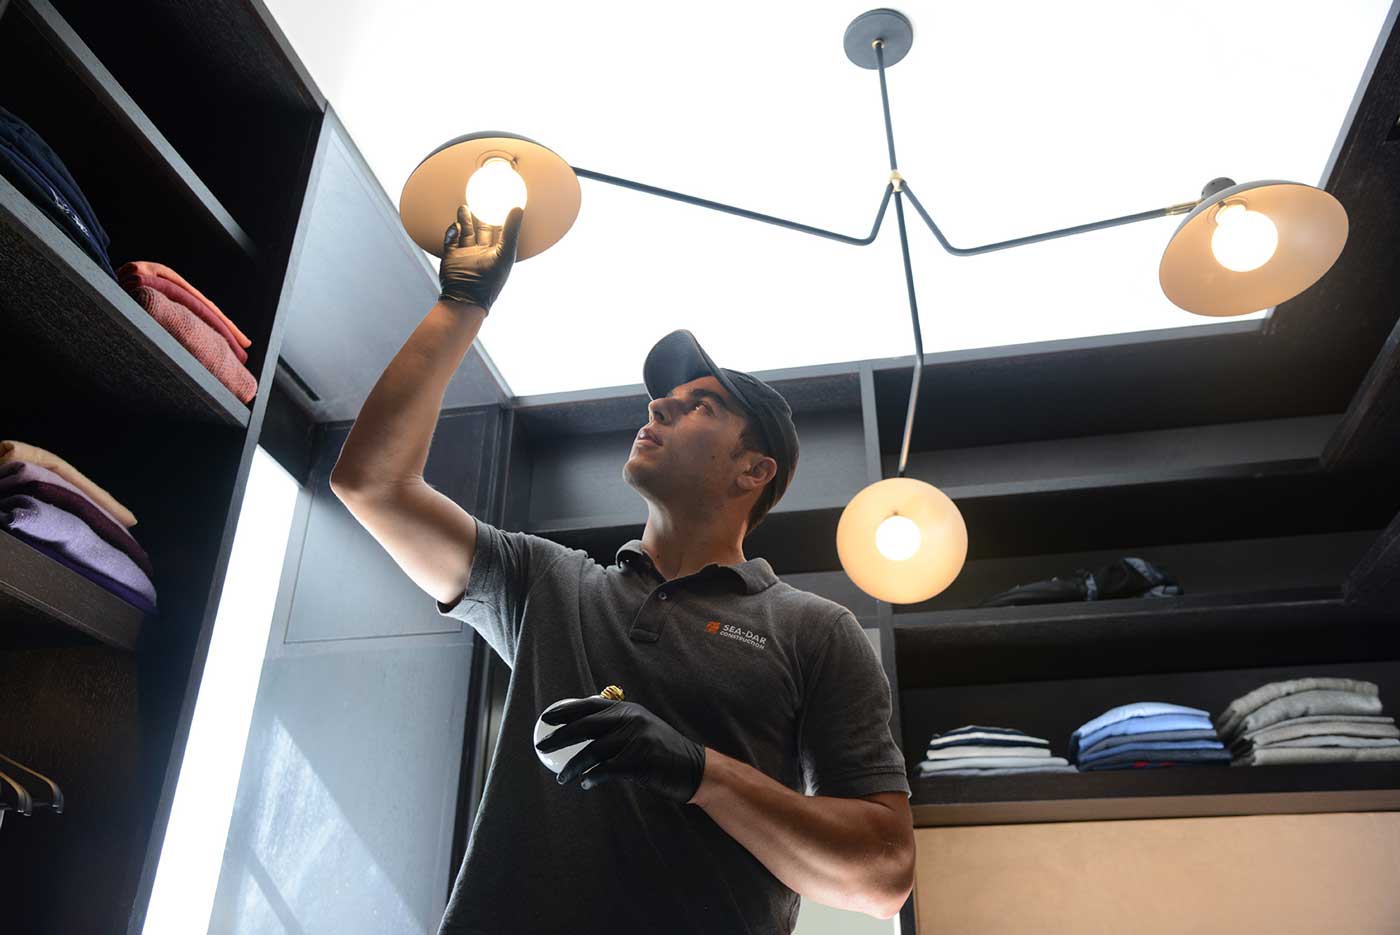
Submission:
POLYGON ((948 495, 913 477, 855 494, 836 525, 836 554, 865 593, 918 603, 946 588, 967 558, 967 525, 948 495))

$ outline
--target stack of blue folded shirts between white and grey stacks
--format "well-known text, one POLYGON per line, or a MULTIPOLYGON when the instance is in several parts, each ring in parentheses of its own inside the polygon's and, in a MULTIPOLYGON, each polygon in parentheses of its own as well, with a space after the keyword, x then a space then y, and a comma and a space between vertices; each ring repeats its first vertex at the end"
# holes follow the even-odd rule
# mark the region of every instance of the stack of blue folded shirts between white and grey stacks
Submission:
POLYGON ((1128 770, 1229 763, 1211 715, 1165 701, 1110 708, 1070 735, 1070 759, 1079 770, 1128 770))

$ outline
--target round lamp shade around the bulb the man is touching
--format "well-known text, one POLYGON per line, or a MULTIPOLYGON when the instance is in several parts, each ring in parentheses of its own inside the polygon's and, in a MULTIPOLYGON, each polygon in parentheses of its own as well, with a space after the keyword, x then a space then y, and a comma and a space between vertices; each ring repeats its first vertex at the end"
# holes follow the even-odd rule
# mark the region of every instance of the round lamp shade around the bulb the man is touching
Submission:
MULTIPOLYGON (((515 259, 553 246, 578 217, 578 176, 552 150, 514 133, 489 130, 448 140, 419 162, 399 196, 399 217, 413 242, 442 256, 442 234, 466 200, 472 174, 504 158, 525 182, 526 204, 515 259)), ((500 168, 494 164, 493 168, 500 168)), ((470 206, 468 206, 470 207, 470 206)))

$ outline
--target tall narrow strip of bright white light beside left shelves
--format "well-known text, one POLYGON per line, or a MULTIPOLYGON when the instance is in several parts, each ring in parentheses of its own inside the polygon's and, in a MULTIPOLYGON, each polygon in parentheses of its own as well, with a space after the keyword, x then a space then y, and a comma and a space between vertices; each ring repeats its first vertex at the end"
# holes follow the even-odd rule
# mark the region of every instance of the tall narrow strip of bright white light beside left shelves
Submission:
POLYGON ((238 514, 144 935, 209 931, 297 490, 295 479, 258 448, 238 514))

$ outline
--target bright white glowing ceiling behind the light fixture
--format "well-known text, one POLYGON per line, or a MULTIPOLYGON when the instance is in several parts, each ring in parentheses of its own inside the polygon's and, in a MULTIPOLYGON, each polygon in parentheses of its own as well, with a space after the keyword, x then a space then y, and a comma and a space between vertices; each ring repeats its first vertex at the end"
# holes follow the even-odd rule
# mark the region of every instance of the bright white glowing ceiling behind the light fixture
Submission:
MULTIPOLYGON (((889 174, 878 77, 841 50, 871 0, 266 3, 395 204, 430 150, 483 129, 858 237, 889 174)), ((1319 183, 1386 7, 906 1, 899 167, 960 246, 1191 200, 1218 175, 1319 183)), ((911 353, 893 206, 855 248, 581 186, 574 228, 482 330, 517 395, 640 382, 673 328, 739 370, 911 353)), ((909 221, 925 351, 1217 321, 1158 287, 1179 218, 980 258, 909 221)))

